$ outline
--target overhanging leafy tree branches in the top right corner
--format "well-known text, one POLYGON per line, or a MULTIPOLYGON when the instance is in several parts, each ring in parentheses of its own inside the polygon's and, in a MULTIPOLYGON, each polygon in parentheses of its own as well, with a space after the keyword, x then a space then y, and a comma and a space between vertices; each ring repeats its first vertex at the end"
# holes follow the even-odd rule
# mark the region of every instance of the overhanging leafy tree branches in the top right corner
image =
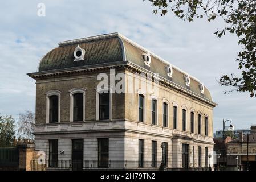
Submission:
MULTIPOLYGON (((145 0, 143 0, 145 1, 145 0)), ((214 34, 221 38, 226 32, 236 34, 242 50, 238 52, 238 69, 240 76, 222 75, 220 84, 231 89, 249 92, 256 96, 256 1, 253 0, 148 0, 157 7, 153 13, 160 11, 161 16, 171 11, 182 20, 192 22, 194 18, 204 18, 208 21, 221 17, 226 27, 214 34)))

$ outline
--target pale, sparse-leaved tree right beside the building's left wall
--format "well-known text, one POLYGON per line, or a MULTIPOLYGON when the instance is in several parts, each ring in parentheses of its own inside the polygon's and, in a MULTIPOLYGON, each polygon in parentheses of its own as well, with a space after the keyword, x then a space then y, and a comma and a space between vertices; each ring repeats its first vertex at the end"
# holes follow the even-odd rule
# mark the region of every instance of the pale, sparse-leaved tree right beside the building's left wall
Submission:
POLYGON ((25 113, 19 114, 18 133, 19 137, 34 140, 35 113, 25 110, 25 113))

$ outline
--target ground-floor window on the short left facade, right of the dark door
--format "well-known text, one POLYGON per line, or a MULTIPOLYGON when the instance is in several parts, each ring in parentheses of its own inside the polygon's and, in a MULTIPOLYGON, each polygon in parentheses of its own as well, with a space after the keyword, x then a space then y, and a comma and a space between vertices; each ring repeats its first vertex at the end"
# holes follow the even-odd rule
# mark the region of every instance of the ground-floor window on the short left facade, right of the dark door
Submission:
POLYGON ((98 138, 98 166, 108 167, 108 138, 98 138))

